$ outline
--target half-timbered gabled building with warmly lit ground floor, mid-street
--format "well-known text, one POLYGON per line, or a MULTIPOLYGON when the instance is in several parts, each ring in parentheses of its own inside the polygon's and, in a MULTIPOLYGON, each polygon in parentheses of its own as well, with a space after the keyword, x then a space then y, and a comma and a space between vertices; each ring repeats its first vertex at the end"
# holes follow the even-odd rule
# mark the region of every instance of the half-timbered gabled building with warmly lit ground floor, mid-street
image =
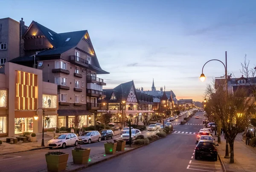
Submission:
POLYGON ((112 112, 116 120, 123 115, 132 123, 147 122, 153 113, 153 96, 145 94, 134 86, 134 81, 122 83, 113 89, 104 89, 106 97, 101 102, 107 104, 105 112, 112 112))

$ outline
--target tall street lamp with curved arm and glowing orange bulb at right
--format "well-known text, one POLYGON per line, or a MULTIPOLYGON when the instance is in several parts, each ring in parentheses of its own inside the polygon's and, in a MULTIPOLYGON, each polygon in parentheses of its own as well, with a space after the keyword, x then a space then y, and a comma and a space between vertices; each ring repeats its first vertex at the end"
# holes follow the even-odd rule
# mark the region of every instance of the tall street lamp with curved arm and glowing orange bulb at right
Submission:
MULTIPOLYGON (((219 61, 219 62, 221 62, 222 64, 223 64, 223 66, 224 66, 224 69, 225 69, 225 75, 223 76, 223 77, 225 77, 225 81, 226 81, 226 95, 228 94, 228 92, 227 92, 227 52, 225 52, 225 64, 221 61, 221 60, 218 60, 218 59, 212 59, 212 60, 209 60, 209 61, 207 61, 206 63, 204 63, 204 66, 208 63, 208 62, 210 62, 210 61, 219 61)), ((202 68, 202 74, 200 75, 200 80, 202 81, 202 82, 204 82, 204 80, 205 80, 205 75, 204 75, 204 66, 203 66, 203 68, 202 68)), ((204 105, 205 106, 205 105, 204 105)), ((219 133, 218 133, 218 143, 220 143, 221 142, 221 136, 219 135, 219 133)), ((230 158, 230 155, 229 155, 229 145, 228 145, 228 140, 227 140, 227 138, 226 138, 226 153, 225 153, 226 155, 225 155, 225 157, 224 158, 230 158)))

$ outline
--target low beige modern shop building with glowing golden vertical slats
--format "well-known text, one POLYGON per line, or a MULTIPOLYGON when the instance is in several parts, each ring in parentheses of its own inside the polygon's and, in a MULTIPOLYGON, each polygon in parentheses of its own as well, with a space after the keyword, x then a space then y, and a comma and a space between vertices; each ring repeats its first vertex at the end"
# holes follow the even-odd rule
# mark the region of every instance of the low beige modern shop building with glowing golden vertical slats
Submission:
POLYGON ((42 110, 38 108, 45 109, 44 127, 56 127, 57 85, 42 81, 42 70, 15 63, 6 62, 4 73, 0 74, 0 137, 41 132, 42 110), (38 120, 33 118, 36 113, 38 120))

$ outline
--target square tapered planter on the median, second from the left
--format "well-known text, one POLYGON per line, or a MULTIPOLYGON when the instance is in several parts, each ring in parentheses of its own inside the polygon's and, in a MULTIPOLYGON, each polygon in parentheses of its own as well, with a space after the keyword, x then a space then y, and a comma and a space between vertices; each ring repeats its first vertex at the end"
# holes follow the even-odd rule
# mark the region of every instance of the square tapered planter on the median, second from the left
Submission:
POLYGON ((75 149, 72 150, 73 163, 76 164, 84 164, 89 160, 90 149, 81 148, 81 146, 76 146, 75 149))

